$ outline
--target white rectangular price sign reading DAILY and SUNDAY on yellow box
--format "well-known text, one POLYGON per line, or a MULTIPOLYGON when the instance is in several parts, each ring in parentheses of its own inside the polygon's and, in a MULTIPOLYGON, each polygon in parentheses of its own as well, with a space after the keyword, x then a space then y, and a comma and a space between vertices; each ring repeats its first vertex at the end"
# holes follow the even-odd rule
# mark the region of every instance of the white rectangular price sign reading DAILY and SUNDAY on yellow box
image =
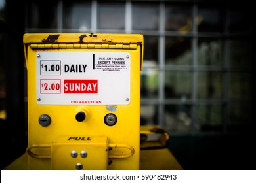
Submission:
POLYGON ((127 105, 129 52, 37 52, 39 105, 127 105))

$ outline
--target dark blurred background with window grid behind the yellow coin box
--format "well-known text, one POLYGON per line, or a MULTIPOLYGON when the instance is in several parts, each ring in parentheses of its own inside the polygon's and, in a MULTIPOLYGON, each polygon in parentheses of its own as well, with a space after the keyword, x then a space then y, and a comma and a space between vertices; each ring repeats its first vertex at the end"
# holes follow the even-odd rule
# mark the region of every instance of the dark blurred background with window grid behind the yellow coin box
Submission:
POLYGON ((144 35, 141 125, 184 169, 256 169, 252 1, 0 0, 1 169, 27 146, 24 33, 144 35))

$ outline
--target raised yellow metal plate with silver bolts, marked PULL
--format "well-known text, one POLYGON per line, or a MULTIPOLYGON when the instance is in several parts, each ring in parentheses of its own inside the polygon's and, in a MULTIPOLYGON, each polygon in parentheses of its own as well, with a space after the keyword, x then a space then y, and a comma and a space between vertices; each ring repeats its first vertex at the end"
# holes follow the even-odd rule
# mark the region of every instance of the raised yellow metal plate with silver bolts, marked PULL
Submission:
MULTIPOLYGON (((83 137, 81 137, 83 138, 83 137)), ((64 137, 54 142, 51 148, 52 169, 107 169, 108 138, 87 137, 83 140, 68 140, 64 137), (89 139, 89 140, 86 140, 89 139)), ((78 138, 77 138, 78 139, 78 138)))

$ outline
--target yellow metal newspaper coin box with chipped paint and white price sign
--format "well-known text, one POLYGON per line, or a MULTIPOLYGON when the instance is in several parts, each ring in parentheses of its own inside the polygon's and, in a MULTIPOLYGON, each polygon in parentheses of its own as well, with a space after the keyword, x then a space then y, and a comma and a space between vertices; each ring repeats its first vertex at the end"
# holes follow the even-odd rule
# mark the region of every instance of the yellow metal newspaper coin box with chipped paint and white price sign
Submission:
POLYGON ((139 169, 143 36, 26 33, 29 169, 139 169))

